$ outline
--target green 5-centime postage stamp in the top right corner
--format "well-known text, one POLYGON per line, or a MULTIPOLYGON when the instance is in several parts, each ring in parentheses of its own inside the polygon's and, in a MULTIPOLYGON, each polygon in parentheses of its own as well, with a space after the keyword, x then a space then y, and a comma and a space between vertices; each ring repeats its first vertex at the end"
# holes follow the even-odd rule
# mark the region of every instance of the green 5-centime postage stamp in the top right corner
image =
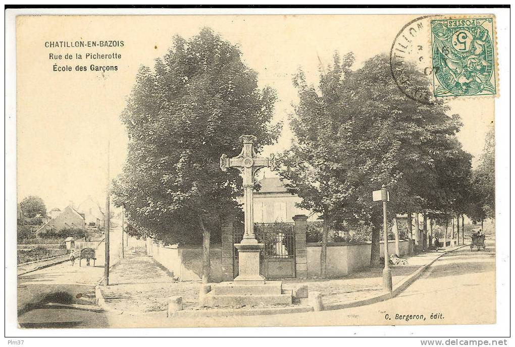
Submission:
POLYGON ((431 20, 435 97, 496 96, 493 16, 431 20))

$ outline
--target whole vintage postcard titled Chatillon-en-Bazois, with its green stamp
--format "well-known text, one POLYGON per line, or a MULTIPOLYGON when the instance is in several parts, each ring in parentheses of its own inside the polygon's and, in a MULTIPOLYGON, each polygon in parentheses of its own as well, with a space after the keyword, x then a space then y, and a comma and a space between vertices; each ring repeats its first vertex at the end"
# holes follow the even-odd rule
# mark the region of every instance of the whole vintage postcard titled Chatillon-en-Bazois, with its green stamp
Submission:
POLYGON ((495 324, 508 43, 435 12, 16 16, 20 330, 495 324))

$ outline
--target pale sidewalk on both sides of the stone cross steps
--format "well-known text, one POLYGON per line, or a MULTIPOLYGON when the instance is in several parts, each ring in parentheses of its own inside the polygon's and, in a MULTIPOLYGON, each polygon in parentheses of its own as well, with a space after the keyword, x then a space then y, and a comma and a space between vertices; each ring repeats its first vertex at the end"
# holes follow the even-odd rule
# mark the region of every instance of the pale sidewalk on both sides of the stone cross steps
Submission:
MULTIPOLYGON (((406 257, 407 265, 391 265, 393 295, 413 282, 428 264, 459 247, 462 246, 406 257)), ((382 271, 367 269, 337 279, 284 279, 283 287, 304 284, 308 291, 320 291, 324 309, 365 305, 392 296, 383 290, 382 271)), ((143 253, 127 254, 111 270, 110 285, 99 289, 105 308, 118 312, 166 311, 170 296, 181 296, 185 311, 198 309, 199 282, 175 281, 166 269, 143 253)))

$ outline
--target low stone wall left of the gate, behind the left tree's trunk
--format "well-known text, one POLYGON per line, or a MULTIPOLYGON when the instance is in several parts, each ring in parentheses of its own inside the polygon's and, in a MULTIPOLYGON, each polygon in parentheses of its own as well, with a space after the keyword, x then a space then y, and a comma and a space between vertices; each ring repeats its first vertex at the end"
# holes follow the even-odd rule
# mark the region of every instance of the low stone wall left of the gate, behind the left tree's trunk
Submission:
MULTIPOLYGON (((147 238, 147 253, 158 263, 174 273, 181 281, 202 278, 202 246, 163 246, 147 238)), ((218 245, 210 249, 211 281, 222 281, 222 250, 218 245)))

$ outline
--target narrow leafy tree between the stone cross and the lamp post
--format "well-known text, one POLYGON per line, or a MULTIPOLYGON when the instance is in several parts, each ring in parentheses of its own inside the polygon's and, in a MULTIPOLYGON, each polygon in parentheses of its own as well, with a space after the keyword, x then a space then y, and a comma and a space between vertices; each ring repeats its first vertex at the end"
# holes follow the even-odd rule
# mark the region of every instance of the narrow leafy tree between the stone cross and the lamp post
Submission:
POLYGON ((336 149, 345 107, 342 83, 350 74, 354 62, 352 53, 340 59, 334 56, 329 72, 320 72, 319 89, 308 86, 303 71, 294 77, 299 104, 291 117, 290 127, 295 135, 291 148, 279 160, 284 168, 281 176, 286 188, 302 198, 299 207, 323 216, 320 276, 326 275, 327 242, 329 228, 337 223, 342 200, 346 199, 338 178, 345 172, 341 152, 336 149))

